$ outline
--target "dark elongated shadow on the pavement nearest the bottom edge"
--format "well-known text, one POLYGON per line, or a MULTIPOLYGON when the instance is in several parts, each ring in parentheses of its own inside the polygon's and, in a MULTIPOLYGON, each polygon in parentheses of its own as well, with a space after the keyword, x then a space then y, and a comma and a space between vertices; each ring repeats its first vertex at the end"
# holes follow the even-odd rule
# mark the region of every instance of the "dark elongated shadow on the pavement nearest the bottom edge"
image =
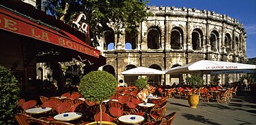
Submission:
POLYGON ((187 118, 188 120, 194 120, 196 122, 201 122, 203 124, 220 125, 216 122, 211 122, 210 119, 205 119, 205 117, 203 117, 202 115, 191 115, 191 114, 184 113, 182 116, 187 118))

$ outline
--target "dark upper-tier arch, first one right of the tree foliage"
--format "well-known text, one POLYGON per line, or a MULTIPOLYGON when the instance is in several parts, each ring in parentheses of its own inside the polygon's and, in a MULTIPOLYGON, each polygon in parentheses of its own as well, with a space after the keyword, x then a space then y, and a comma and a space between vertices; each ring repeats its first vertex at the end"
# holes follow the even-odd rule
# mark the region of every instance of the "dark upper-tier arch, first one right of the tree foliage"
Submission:
POLYGON ((156 28, 151 28, 147 34, 147 48, 158 49, 161 45, 160 32, 156 28))

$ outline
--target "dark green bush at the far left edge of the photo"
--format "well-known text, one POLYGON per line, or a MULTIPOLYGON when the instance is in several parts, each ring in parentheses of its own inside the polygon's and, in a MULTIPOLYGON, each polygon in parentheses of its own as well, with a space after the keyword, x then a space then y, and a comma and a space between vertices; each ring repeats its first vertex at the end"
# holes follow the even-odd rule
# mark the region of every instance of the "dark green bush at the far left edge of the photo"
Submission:
POLYGON ((0 66, 0 124, 14 124, 19 101, 19 86, 10 71, 0 66))

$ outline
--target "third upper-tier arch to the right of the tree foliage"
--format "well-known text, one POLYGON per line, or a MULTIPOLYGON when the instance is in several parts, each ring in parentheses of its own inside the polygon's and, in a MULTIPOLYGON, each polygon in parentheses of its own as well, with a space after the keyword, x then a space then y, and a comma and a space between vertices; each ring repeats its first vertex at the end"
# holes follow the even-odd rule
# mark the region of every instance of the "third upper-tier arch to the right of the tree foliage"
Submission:
POLYGON ((192 32, 192 49, 201 50, 201 46, 203 46, 203 32, 196 28, 192 32))

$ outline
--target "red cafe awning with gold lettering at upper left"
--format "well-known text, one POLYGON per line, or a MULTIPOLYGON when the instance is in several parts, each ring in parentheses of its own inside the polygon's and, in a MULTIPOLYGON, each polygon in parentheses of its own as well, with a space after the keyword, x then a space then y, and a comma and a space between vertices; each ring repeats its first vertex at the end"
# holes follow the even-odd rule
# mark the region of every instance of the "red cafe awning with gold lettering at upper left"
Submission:
POLYGON ((68 32, 65 32, 64 30, 57 31, 53 28, 39 25, 35 21, 31 21, 30 19, 21 17, 20 15, 15 15, 14 13, 3 8, 0 8, 0 28, 19 35, 24 35, 26 37, 32 37, 34 39, 39 39, 40 41, 55 44, 57 46, 70 48, 86 55, 91 55, 97 58, 100 57, 99 50, 85 44, 83 41, 77 39, 68 32), (65 35, 61 34, 60 32, 65 35))

